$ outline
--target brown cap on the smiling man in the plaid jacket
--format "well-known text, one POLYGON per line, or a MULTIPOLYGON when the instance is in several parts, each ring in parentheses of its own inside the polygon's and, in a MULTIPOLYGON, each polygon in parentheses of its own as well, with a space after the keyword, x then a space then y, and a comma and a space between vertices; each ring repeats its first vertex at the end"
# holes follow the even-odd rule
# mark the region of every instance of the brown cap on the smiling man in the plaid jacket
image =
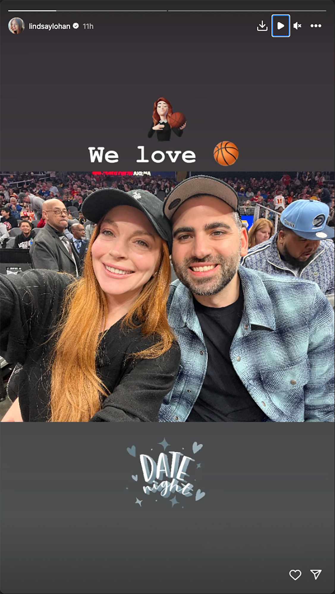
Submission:
POLYGON ((238 195, 235 189, 222 179, 212 178, 210 175, 193 175, 191 178, 184 179, 180 184, 168 194, 163 204, 163 211, 168 219, 171 219, 176 210, 184 204, 188 198, 194 198, 197 195, 206 194, 220 198, 226 204, 239 214, 238 195))

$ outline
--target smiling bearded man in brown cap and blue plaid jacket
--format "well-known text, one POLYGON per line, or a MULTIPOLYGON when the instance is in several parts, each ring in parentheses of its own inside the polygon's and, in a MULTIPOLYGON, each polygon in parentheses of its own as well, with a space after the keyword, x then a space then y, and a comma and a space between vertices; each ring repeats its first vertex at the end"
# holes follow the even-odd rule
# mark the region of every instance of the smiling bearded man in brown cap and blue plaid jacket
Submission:
POLYGON ((160 421, 334 421, 334 313, 316 283, 240 265, 248 235, 220 179, 186 179, 163 208, 181 366, 160 421))

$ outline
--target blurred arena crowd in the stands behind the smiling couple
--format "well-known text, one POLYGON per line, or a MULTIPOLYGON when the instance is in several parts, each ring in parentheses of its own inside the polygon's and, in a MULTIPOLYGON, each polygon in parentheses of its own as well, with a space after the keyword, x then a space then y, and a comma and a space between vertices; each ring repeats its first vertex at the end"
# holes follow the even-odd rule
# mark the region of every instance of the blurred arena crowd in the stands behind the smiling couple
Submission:
MULTIPOLYGON (((296 200, 324 202, 330 208, 328 225, 334 225, 333 172, 236 172, 231 176, 225 176, 224 172, 185 172, 185 175, 199 173, 220 177, 235 189, 242 218, 251 217, 248 221, 249 247, 273 235, 278 219, 276 215, 296 200), (266 219, 267 223, 261 225, 257 223, 258 219, 266 219)), ((67 209, 68 238, 73 239, 71 227, 79 223, 85 226, 84 231, 80 228, 83 237, 90 239, 93 225, 81 213, 81 204, 87 195, 102 188, 119 188, 125 192, 141 188, 164 200, 179 181, 178 172, 152 172, 150 175, 134 175, 133 172, 2 172, 1 247, 30 247, 36 235, 34 229, 45 225, 42 205, 50 198, 58 198, 67 209), (26 223, 23 228, 22 222, 26 223), (24 237, 21 236, 20 242, 17 240, 8 244, 10 234, 7 236, 6 230, 10 233, 16 227, 23 230, 24 237)), ((14 235, 16 237, 18 231, 14 235)))

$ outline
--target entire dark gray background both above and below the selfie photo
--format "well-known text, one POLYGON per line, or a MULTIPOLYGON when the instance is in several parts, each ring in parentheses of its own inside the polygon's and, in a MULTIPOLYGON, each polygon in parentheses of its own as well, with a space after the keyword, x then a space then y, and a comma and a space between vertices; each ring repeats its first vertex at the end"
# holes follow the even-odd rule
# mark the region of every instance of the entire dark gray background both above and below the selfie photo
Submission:
MULTIPOLYGON (((227 173, 334 169, 333 2, 219 4, 264 10, 245 14, 37 16, 8 13, 13 6, 27 10, 27 2, 1 4, 2 170, 222 171, 213 159, 222 140, 240 149, 227 173), (257 33, 262 18, 270 27, 272 12, 289 12, 302 28, 290 39, 272 39, 270 28, 257 33), (18 37, 8 31, 13 16, 26 22, 18 37), (311 30, 313 20, 323 27, 311 30), (28 29, 29 22, 74 21, 77 31, 28 29), (84 31, 84 22, 94 30, 84 31), (184 136, 170 143, 147 138, 160 95, 187 115, 184 136), (146 154, 194 150, 197 162, 137 164, 138 145, 146 154), (117 150, 118 165, 91 165, 88 146, 117 150)), ((206 10, 217 6, 206 1, 206 10)), ((94 2, 95 10, 122 7, 94 2)), ((333 424, 0 429, 4 594, 334 590, 333 424), (189 455, 193 441, 204 444, 196 459, 206 497, 185 498, 184 509, 160 495, 156 502, 143 494, 143 507, 135 505, 143 483, 131 479, 134 472, 140 478, 140 467, 127 447, 148 454, 153 447, 157 458, 163 437, 189 455), (293 582, 296 568, 302 576, 293 582), (323 570, 316 582, 313 568, 323 570)))

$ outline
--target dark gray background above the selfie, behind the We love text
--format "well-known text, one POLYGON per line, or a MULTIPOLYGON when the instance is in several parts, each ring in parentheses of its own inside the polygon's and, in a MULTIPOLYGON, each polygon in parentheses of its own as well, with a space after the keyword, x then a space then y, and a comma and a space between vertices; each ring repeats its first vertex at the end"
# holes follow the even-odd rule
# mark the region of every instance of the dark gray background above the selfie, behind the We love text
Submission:
POLYGON ((217 143, 240 150, 231 170, 333 170, 334 4, 317 2, 9 2, 2 10, 2 170, 222 170, 217 143), (57 10, 259 10, 260 12, 20 12, 57 10), (17 12, 8 12, 9 8, 17 12), (325 10, 326 12, 295 12, 325 10), (271 37, 271 14, 291 14, 289 39, 271 37), (8 31, 21 16, 26 30, 8 31), (264 20, 268 31, 257 32, 264 20), (31 23, 78 30, 33 31, 31 23), (301 29, 293 29, 299 21, 301 29), (90 22, 94 30, 84 30, 90 22), (311 29, 311 23, 321 29, 311 29), (153 103, 184 112, 182 138, 148 139, 153 103), (138 164, 137 146, 150 163, 138 164), (90 163, 89 146, 119 163, 90 163), (153 163, 154 150, 197 160, 153 163), (149 155, 149 156, 148 156, 149 155))

